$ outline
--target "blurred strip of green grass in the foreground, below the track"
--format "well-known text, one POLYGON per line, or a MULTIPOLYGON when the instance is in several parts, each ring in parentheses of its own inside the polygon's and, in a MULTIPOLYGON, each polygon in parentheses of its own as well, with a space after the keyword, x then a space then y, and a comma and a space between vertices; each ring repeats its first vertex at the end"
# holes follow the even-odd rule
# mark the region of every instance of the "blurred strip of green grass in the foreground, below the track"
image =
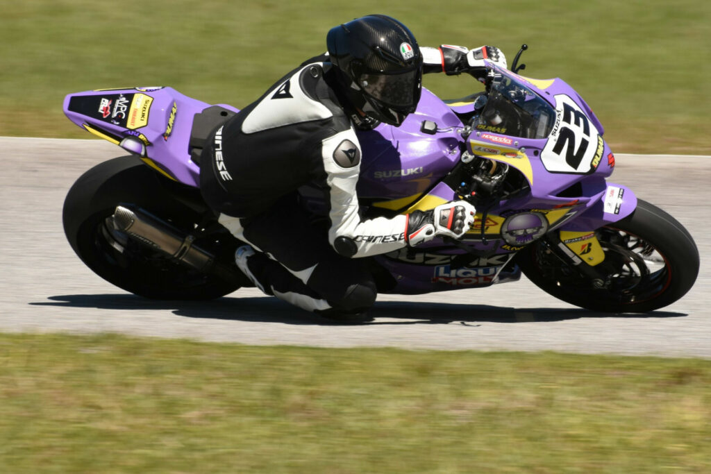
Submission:
POLYGON ((711 471, 711 362, 0 335, 0 472, 711 471))

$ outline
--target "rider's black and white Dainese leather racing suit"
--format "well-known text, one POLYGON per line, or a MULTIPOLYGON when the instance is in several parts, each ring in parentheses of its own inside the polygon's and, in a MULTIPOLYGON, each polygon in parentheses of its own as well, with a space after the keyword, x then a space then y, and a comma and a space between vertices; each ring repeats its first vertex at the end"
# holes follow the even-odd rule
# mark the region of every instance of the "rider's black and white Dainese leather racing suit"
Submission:
MULTIPOLYGON (((442 48, 428 49, 425 70, 447 72, 442 48)), ((213 131, 201 190, 219 222, 260 251, 248 261, 247 276, 257 286, 309 311, 359 313, 377 291, 363 260, 353 257, 417 244, 425 216, 360 217, 360 118, 332 87, 327 60, 320 56, 289 72, 213 131), (296 190, 306 184, 324 191, 325 231, 298 203, 296 190)))

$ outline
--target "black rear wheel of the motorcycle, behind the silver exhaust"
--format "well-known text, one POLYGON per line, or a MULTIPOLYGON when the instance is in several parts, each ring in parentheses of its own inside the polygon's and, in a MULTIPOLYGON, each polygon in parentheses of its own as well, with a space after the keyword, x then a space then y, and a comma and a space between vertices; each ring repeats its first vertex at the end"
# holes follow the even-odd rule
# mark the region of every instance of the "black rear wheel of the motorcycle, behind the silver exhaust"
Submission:
MULTIPOLYGON (((91 168, 70 188, 63 223, 77 256, 97 275, 121 289, 156 299, 207 300, 239 288, 234 281, 191 269, 117 233, 107 225, 107 217, 119 203, 144 208, 186 234, 208 212, 198 190, 159 176, 132 156, 91 168)), ((225 230, 196 244, 227 260, 236 242, 225 230)))

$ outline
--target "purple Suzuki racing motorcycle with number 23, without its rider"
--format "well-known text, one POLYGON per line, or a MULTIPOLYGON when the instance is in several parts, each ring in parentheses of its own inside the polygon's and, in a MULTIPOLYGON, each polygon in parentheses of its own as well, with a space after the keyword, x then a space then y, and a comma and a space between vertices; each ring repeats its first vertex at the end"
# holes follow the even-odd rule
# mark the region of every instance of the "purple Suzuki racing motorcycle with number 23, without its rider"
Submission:
MULTIPOLYGON (((380 293, 481 288, 525 276, 592 311, 647 312, 693 286, 699 253, 671 215, 606 181, 615 157, 602 124, 570 85, 487 65, 485 90, 444 101, 422 90, 400 127, 360 131, 365 217, 469 200, 460 240, 368 257, 380 293)), ((479 84, 477 82, 477 84, 479 84)), ((198 189, 210 131, 239 112, 171 87, 79 92, 68 118, 128 152, 94 166, 63 208, 69 243, 115 286, 148 298, 210 299, 252 286, 234 264, 240 242, 198 189)), ((316 190, 300 190, 319 222, 316 190)), ((299 249, 294 249, 298 252, 299 249)))

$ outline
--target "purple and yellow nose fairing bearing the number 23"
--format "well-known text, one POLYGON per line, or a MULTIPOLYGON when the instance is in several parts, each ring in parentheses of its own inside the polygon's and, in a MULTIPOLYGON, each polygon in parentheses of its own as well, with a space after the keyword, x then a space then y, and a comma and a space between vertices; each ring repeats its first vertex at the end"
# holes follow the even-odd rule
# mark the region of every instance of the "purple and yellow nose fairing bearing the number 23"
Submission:
POLYGON ((545 123, 534 122, 523 129, 507 126, 515 120, 492 123, 487 120, 493 115, 487 104, 472 123, 467 152, 506 163, 525 177, 530 202, 517 205, 563 205, 575 200, 576 205, 587 206, 602 198, 606 178, 614 170, 614 155, 603 139, 602 125, 577 92, 560 79, 535 80, 497 67, 492 71, 506 85, 503 92, 515 95, 510 91, 519 88, 529 99, 535 97, 536 103, 545 101, 547 111, 540 114, 545 123))

